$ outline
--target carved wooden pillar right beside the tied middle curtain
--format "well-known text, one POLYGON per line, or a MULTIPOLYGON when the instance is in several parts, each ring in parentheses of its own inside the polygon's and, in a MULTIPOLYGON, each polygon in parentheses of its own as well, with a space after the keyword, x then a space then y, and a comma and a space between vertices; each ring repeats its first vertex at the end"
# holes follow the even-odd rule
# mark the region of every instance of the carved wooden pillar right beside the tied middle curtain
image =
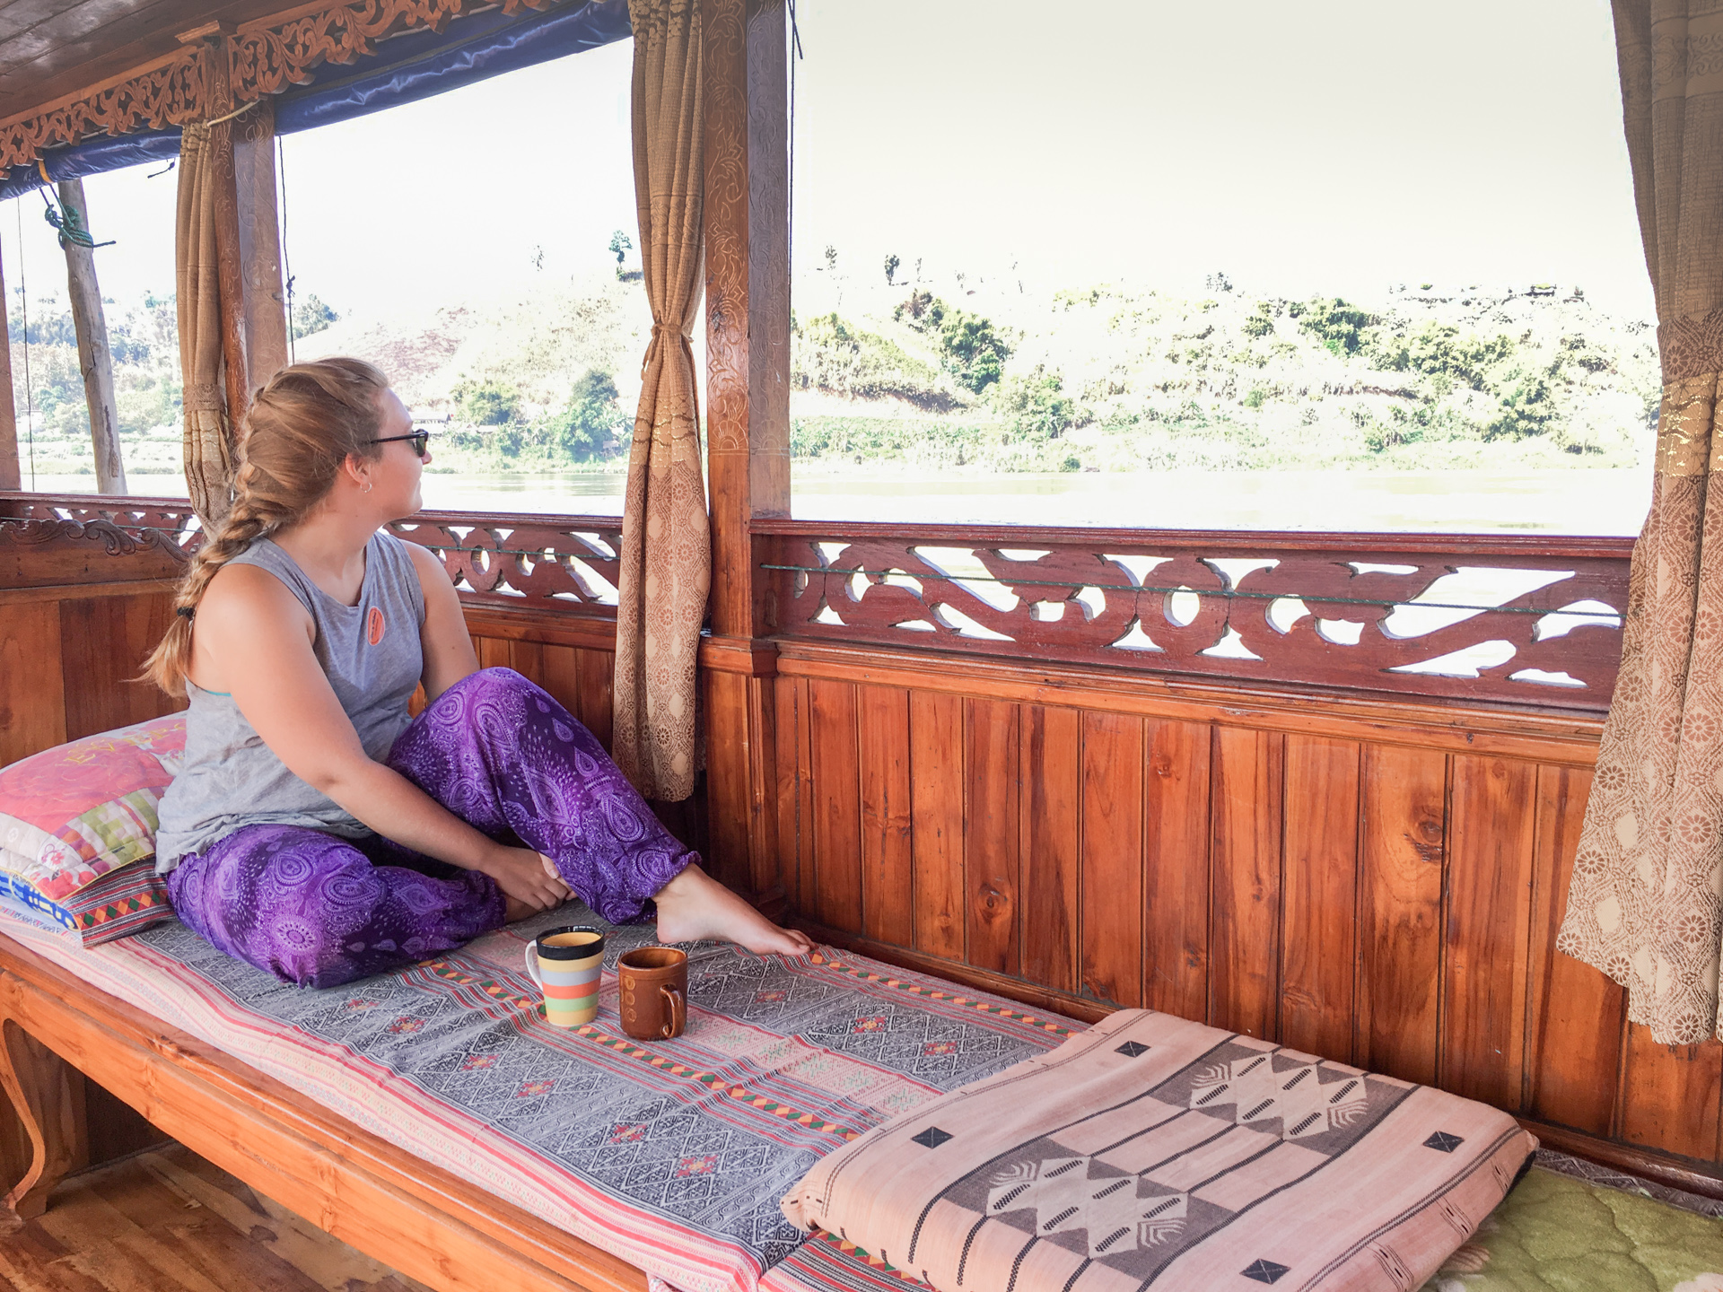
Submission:
POLYGON ((779 887, 772 773, 777 648, 755 517, 789 515, 789 105, 784 0, 705 9, 706 443, 712 639, 706 811, 713 870, 779 887))

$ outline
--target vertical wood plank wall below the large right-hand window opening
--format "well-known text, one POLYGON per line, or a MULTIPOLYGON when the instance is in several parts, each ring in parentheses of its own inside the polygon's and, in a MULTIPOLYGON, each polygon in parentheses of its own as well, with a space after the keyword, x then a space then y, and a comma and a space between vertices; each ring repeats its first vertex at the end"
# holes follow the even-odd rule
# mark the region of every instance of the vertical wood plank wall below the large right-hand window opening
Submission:
POLYGON ((779 851, 836 939, 1718 1161, 1723 1046, 1652 1044, 1554 949, 1595 724, 1475 741, 1439 706, 1316 698, 1192 717, 1149 687, 1065 701, 1054 667, 1008 686, 822 651, 779 662, 779 851))

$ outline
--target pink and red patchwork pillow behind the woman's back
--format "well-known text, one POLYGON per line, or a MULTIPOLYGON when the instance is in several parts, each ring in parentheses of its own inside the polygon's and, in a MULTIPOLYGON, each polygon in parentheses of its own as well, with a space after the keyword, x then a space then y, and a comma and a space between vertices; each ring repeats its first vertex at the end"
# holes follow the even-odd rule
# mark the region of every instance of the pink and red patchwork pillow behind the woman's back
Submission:
POLYGON ((171 915, 155 856, 155 808, 184 760, 174 713, 0 767, 0 885, 84 944, 171 915))

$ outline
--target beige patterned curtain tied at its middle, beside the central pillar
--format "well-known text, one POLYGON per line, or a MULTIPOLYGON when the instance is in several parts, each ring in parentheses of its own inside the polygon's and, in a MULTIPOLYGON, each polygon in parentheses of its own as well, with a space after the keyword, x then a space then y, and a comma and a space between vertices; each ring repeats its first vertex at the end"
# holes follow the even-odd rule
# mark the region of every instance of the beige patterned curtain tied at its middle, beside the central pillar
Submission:
POLYGON ((691 338, 700 317, 703 114, 698 0, 629 0, 634 200, 651 345, 629 453, 617 605, 617 765, 646 798, 694 791, 694 651, 712 584, 691 338))

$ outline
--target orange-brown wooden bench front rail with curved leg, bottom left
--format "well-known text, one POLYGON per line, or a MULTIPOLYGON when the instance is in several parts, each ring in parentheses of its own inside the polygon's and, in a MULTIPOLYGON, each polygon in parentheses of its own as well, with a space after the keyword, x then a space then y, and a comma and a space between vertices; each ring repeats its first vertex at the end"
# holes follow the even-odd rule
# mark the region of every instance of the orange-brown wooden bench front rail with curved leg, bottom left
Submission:
POLYGON ((86 1151, 67 1065, 176 1140, 343 1242, 436 1289, 639 1292, 646 1275, 353 1125, 0 935, 0 1085, 31 1165, 5 1196, 36 1216, 86 1151))

